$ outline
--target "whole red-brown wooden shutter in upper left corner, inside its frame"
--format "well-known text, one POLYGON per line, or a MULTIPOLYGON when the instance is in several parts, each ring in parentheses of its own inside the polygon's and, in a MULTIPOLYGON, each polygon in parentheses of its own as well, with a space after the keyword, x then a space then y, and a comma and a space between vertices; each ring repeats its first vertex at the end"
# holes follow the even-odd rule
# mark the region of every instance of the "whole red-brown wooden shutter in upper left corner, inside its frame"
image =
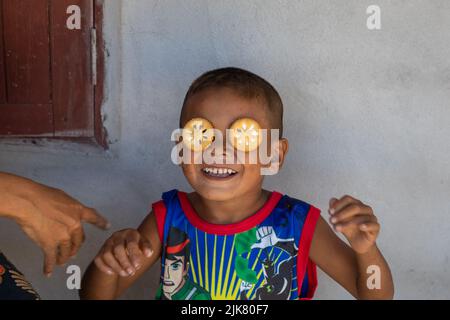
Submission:
POLYGON ((0 135, 94 136, 93 1, 0 0, 0 135))

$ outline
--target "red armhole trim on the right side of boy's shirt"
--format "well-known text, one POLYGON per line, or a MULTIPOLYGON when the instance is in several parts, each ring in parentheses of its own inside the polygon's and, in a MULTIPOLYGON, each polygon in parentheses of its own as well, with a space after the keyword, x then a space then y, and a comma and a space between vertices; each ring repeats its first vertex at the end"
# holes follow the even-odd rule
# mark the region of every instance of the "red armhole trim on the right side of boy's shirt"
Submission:
POLYGON ((297 283, 298 283, 298 295, 300 296, 302 290, 303 279, 308 277, 308 293, 305 298, 301 300, 309 300, 314 296, 314 292, 317 288, 317 271, 316 264, 309 259, 309 249, 311 247, 311 241, 316 228, 317 220, 320 216, 320 210, 310 205, 308 215, 306 216, 305 224, 303 226, 300 243, 298 246, 297 254, 297 283))

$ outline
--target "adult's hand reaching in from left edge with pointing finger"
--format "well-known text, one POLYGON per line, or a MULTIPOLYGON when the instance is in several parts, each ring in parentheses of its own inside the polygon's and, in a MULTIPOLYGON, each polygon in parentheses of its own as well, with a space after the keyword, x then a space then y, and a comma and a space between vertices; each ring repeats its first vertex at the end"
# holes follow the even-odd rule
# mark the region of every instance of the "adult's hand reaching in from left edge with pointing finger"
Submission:
POLYGON ((109 228, 108 221, 64 191, 0 173, 0 215, 11 217, 44 252, 44 273, 50 276, 80 249, 83 222, 109 228), (2 214, 3 213, 3 214, 2 214))

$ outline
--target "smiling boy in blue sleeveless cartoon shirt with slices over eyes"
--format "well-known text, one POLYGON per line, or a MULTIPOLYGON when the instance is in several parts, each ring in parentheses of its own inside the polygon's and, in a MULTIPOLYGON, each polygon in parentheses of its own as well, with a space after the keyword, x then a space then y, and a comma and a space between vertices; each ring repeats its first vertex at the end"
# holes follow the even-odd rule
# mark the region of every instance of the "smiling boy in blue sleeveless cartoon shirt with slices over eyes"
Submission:
POLYGON ((262 130, 278 129, 270 137, 281 168, 288 151, 282 119, 280 96, 253 73, 224 68, 194 81, 178 144, 190 156, 180 165, 194 192, 163 193, 137 230, 114 233, 89 266, 81 298, 115 299, 161 258, 157 299, 310 299, 316 265, 356 298, 391 299, 391 273, 375 243, 380 226, 369 206, 351 196, 330 200, 330 223, 347 245, 319 209, 262 189, 266 164, 249 163, 249 154, 260 148, 262 130), (240 152, 239 161, 195 161, 226 131, 232 134, 214 156, 240 152), (375 288, 368 285, 373 266, 375 288))

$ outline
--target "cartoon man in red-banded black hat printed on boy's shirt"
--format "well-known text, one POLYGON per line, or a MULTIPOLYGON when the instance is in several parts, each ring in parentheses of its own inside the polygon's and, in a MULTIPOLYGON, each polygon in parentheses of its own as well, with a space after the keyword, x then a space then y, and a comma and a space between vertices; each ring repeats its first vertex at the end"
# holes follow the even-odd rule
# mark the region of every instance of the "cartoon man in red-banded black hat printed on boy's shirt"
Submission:
POLYGON ((171 227, 164 258, 164 273, 156 299, 211 300, 210 294, 188 277, 190 240, 178 228, 171 227))

